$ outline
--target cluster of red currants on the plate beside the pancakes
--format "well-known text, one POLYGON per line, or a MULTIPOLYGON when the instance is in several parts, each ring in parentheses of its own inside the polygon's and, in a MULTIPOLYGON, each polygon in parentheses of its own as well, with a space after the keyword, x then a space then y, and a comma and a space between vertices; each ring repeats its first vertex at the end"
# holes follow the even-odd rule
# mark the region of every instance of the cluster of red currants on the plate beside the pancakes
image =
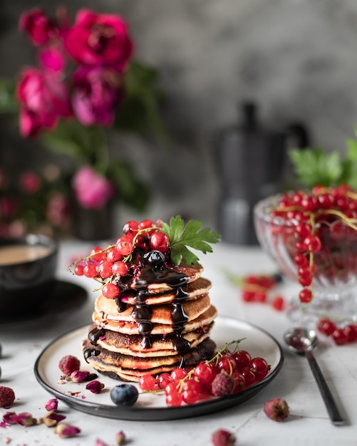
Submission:
POLYGON ((253 357, 248 351, 229 351, 232 341, 218 351, 209 361, 202 361, 194 368, 175 368, 155 378, 143 375, 139 387, 145 392, 163 390, 167 405, 194 404, 209 397, 222 397, 240 392, 262 381, 269 373, 264 358, 253 357))

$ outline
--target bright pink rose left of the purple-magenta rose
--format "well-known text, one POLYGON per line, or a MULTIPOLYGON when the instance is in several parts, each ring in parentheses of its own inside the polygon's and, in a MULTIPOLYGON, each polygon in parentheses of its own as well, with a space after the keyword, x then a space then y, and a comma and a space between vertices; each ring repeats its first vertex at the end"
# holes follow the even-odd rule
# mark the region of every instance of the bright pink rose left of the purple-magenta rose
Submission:
POLYGON ((20 132, 34 137, 56 128, 61 116, 71 115, 68 89, 61 78, 36 68, 26 68, 16 85, 20 103, 20 132))

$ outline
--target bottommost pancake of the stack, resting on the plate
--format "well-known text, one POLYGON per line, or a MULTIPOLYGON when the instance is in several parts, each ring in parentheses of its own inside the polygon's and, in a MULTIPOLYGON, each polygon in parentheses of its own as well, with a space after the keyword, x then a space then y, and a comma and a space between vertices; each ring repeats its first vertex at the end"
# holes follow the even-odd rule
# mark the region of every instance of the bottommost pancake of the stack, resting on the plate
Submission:
POLYGON ((83 341, 83 354, 86 361, 95 370, 111 378, 126 381, 138 381, 145 374, 159 375, 170 372, 176 367, 190 367, 212 358, 216 353, 216 345, 211 338, 202 341, 196 348, 175 356, 138 358, 121 353, 114 353, 93 345, 86 339, 83 341))

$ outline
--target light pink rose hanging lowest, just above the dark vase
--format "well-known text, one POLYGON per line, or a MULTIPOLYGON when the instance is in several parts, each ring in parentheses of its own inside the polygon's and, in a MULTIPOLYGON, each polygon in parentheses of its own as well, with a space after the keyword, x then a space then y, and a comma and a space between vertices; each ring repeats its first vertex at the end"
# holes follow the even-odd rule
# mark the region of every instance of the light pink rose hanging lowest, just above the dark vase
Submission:
POLYGON ((81 167, 72 184, 78 203, 88 209, 104 207, 114 195, 112 183, 90 166, 81 167))

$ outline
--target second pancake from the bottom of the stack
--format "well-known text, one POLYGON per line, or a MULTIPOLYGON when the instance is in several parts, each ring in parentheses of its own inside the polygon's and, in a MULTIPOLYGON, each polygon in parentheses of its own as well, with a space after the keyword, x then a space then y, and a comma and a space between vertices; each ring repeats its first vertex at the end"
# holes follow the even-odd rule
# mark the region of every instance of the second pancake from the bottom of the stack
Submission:
POLYGON ((125 335, 115 331, 105 331, 92 324, 89 328, 88 339, 93 345, 100 346, 108 351, 122 353, 124 355, 141 356, 143 358, 150 356, 177 355, 177 351, 182 348, 195 348, 199 343, 208 338, 212 331, 214 323, 202 326, 200 329, 190 331, 177 336, 177 333, 171 333, 166 336, 155 335, 151 337, 150 348, 143 348, 143 336, 125 335))

